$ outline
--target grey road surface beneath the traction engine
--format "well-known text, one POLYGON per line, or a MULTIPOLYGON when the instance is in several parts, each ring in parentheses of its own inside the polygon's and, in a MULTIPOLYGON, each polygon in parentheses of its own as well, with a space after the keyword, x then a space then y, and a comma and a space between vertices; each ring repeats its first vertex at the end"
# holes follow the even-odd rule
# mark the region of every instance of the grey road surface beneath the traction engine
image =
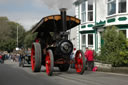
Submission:
POLYGON ((22 68, 10 60, 0 64, 0 85, 128 85, 127 74, 89 72, 79 75, 74 69, 59 72, 55 68, 53 76, 47 76, 45 67, 33 73, 31 66, 22 68))

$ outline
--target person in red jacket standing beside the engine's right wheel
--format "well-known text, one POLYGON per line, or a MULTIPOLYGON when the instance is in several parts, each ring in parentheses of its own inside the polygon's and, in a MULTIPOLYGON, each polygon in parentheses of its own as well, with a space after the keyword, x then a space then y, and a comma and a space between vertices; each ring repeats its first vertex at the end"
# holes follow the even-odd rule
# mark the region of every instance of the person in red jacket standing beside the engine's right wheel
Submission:
POLYGON ((85 57, 87 59, 87 69, 92 71, 94 67, 94 51, 91 48, 86 50, 85 57))

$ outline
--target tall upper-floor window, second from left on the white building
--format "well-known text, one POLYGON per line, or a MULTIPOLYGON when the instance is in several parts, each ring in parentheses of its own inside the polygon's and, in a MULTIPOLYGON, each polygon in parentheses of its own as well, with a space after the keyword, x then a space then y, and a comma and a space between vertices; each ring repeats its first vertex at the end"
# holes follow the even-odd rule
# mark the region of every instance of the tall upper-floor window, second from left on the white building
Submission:
POLYGON ((93 21, 93 0, 88 1, 88 21, 93 21))

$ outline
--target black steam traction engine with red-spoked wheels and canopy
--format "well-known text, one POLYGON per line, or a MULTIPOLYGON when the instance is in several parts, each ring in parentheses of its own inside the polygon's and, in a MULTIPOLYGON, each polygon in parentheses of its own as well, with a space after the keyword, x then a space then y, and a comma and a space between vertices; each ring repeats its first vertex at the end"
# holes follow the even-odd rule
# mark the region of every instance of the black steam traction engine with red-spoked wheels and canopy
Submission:
POLYGON ((85 70, 85 56, 81 50, 71 60, 73 44, 68 40, 67 30, 80 24, 80 20, 66 15, 66 9, 60 9, 61 15, 44 17, 33 28, 37 32, 31 49, 31 65, 33 72, 39 72, 41 65, 46 67, 46 73, 51 76, 54 67, 60 71, 68 71, 70 64, 75 63, 76 72, 83 74, 85 70))

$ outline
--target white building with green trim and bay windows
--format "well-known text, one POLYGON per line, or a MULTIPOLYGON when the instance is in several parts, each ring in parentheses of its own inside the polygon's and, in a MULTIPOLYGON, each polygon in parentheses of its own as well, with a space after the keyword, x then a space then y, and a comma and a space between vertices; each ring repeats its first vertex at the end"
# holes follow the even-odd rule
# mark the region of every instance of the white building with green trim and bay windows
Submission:
POLYGON ((92 47, 99 51, 101 34, 107 26, 116 26, 128 38, 128 0, 76 0, 77 49, 92 47))

